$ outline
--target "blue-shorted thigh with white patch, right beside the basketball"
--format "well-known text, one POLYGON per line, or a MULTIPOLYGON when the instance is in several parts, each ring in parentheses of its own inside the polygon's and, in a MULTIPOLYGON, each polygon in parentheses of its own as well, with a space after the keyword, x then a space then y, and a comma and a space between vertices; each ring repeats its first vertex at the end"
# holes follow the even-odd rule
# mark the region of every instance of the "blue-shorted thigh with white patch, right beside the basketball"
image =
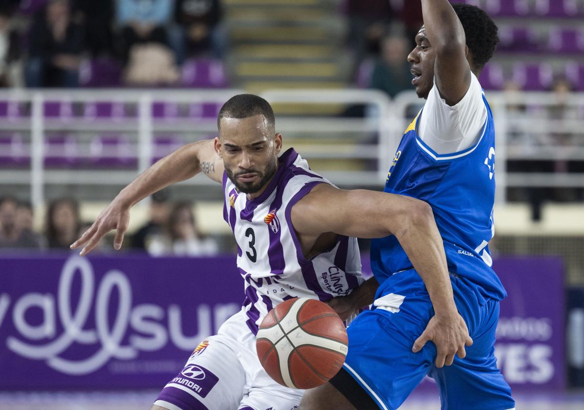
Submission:
MULTIPOLYGON (((376 304, 381 304, 380 299, 376 304)), ((352 376, 353 385, 337 383, 342 375, 335 376, 331 384, 340 392, 360 388, 379 408, 396 409, 426 376, 436 356, 433 343, 412 353, 413 342, 422 334, 433 310, 423 292, 405 297, 388 294, 385 300, 390 300, 390 305, 394 300, 395 307, 363 312, 347 329, 349 353, 343 370, 352 376)), ((361 399, 366 397, 359 402, 361 399)), ((352 402, 355 404, 354 399, 352 402)))

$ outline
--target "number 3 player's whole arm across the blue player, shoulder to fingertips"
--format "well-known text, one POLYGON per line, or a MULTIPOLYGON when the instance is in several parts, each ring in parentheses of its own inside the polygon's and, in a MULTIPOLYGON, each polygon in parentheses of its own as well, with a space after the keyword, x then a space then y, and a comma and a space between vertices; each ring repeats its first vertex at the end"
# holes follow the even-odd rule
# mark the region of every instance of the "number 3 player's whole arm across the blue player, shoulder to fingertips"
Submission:
POLYGON ((427 340, 436 345, 436 366, 452 364, 454 355, 466 355, 464 346, 472 339, 458 314, 446 265, 446 255, 432 208, 406 196, 369 190, 340 190, 317 185, 291 211, 292 223, 301 238, 315 238, 324 232, 360 238, 395 235, 413 267, 426 285, 435 316, 416 340, 413 351, 427 340))

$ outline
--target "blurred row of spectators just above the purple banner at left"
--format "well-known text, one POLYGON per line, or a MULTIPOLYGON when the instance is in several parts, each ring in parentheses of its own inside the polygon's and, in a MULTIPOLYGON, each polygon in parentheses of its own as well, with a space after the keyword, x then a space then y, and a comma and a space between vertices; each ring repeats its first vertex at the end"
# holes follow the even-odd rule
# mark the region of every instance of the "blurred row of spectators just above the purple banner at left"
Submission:
MULTIPOLYGON (((74 199, 51 201, 46 210, 43 230, 34 229, 34 210, 30 203, 15 197, 0 198, 0 251, 69 251, 69 246, 91 223, 81 220, 79 204, 74 199)), ((96 252, 109 252, 111 238, 106 238, 96 252)), ((215 238, 203 235, 197 227, 193 205, 171 203, 164 190, 151 198, 148 222, 126 235, 124 249, 147 252, 152 256, 210 256, 220 252, 215 238)))

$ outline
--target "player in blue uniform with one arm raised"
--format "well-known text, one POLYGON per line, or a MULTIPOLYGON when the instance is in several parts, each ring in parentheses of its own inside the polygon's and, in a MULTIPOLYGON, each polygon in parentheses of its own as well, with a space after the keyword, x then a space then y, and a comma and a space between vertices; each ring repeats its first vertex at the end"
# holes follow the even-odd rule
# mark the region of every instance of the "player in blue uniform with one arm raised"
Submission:
POLYGON ((422 11, 408 61, 426 103, 402 137, 385 192, 432 206, 456 305, 434 301, 395 236, 374 239, 371 267, 380 286, 373 309, 349 325, 345 365, 330 383, 307 391, 302 410, 397 409, 426 375, 436 381, 443 409, 515 408, 493 355, 506 293, 487 245, 494 234, 495 128, 477 79, 495 51, 497 27, 481 9, 447 0, 422 0, 422 11), (458 357, 445 356, 443 346, 427 342, 456 310, 473 343, 458 357))

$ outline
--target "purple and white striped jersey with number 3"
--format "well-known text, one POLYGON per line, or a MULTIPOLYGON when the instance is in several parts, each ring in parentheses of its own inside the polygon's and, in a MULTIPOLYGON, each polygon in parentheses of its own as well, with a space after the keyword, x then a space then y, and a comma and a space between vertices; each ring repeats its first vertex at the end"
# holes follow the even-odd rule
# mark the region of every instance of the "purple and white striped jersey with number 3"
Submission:
POLYGON ((363 283, 356 238, 339 235, 335 247, 304 258, 290 220, 294 204, 319 183, 330 182, 310 171, 305 159, 290 148, 259 197, 248 200, 223 175, 223 217, 238 245, 237 266, 245 280, 246 324, 256 334, 274 306, 293 297, 328 301, 346 296, 363 283))

